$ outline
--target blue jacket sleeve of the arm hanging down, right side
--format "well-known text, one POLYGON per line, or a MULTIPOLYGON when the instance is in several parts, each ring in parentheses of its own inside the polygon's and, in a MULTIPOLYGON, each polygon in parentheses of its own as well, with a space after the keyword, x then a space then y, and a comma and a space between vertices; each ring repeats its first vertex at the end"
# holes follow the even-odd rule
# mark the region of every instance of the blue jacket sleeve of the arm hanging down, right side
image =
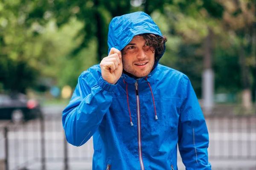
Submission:
POLYGON ((209 135, 195 91, 183 78, 184 100, 180 108, 178 146, 186 170, 211 170, 207 148, 209 135))

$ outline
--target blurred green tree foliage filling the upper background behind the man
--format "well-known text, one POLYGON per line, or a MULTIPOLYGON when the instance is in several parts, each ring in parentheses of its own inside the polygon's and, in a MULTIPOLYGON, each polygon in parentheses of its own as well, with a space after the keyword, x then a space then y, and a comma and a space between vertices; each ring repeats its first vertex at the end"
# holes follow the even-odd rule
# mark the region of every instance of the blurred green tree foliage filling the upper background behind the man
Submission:
POLYGON ((198 96, 209 30, 216 91, 255 90, 255 5, 255 0, 2 0, 0 84, 21 92, 38 82, 75 87, 82 71, 108 55, 111 19, 145 11, 168 38, 160 63, 187 74, 198 96))

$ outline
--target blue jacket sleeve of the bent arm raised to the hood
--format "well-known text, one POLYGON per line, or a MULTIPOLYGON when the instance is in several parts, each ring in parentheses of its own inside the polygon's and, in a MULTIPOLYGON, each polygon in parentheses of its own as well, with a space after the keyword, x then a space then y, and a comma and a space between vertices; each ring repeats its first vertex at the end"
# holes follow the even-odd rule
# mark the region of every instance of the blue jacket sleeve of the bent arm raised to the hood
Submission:
POLYGON ((62 125, 67 142, 81 146, 96 132, 108 111, 116 85, 89 71, 79 76, 70 103, 62 112, 62 125))

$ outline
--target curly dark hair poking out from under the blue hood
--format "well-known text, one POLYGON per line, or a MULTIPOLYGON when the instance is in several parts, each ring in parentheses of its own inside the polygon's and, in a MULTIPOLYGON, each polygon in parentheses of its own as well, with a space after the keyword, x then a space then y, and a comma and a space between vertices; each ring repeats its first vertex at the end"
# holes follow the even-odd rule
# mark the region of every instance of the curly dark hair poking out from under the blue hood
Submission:
MULTIPOLYGON (((145 33, 138 34, 138 36, 142 36, 145 42, 150 46, 151 51, 155 53, 155 59, 158 60, 160 55, 164 52, 164 44, 167 41, 165 36, 161 37, 160 35, 145 33)), ((122 54, 123 54, 122 50, 122 54)))

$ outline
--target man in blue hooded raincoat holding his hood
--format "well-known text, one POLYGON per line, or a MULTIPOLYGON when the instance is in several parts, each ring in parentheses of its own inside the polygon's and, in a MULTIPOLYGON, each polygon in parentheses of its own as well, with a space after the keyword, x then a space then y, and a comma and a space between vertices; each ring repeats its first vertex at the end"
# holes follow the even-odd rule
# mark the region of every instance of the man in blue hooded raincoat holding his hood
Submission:
POLYGON ((84 71, 63 111, 67 141, 93 136, 93 170, 210 170, 207 126, 186 75, 158 64, 166 38, 144 12, 115 17, 109 55, 84 71))

